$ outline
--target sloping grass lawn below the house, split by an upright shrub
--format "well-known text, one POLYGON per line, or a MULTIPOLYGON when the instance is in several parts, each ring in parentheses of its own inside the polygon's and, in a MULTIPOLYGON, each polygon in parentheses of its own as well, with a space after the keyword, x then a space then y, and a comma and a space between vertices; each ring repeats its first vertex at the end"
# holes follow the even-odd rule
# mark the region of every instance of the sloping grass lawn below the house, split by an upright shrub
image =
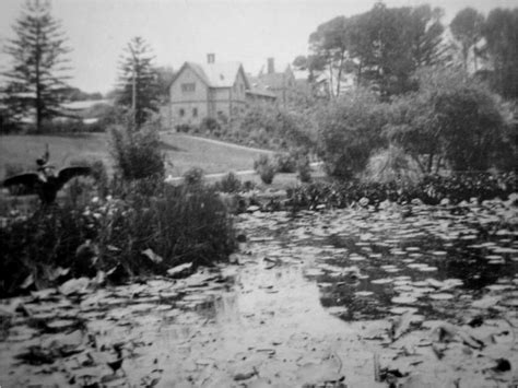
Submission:
MULTIPOLYGON (((180 176, 187 169, 198 166, 207 174, 229 171, 252 169, 254 160, 260 151, 208 141, 181 133, 162 133, 166 155, 167 174, 180 176)), ((58 168, 72 161, 103 161, 113 168, 109 155, 109 136, 83 133, 63 136, 0 136, 0 177, 5 176, 5 166, 22 166, 27 171, 35 167, 35 160, 43 155, 45 144, 49 145, 50 161, 58 168)))

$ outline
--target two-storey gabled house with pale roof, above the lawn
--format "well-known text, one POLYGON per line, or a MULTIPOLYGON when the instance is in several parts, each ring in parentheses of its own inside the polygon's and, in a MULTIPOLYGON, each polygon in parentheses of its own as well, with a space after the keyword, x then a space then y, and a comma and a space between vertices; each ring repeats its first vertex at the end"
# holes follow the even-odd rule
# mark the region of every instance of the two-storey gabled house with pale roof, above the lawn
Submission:
POLYGON ((226 120, 243 114, 252 101, 274 101, 268 91, 254 90, 239 62, 185 62, 169 86, 165 111, 172 126, 198 125, 205 117, 226 120))

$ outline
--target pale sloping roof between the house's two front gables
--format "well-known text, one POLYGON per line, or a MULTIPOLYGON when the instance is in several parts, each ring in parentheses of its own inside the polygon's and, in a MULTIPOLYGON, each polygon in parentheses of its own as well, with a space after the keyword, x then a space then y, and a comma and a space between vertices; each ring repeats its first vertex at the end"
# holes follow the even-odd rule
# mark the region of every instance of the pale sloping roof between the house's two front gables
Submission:
POLYGON ((250 87, 248 79, 243 70, 243 64, 239 62, 216 62, 216 63, 195 63, 185 62, 176 77, 173 79, 174 83, 178 75, 186 69, 190 68, 209 87, 232 87, 236 81, 237 74, 243 73, 245 85, 250 87))

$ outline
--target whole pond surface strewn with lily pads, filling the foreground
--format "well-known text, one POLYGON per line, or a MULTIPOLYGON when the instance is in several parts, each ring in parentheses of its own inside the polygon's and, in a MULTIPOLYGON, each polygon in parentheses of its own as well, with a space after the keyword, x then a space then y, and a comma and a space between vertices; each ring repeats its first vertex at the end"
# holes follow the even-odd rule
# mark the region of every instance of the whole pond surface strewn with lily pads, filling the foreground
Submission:
POLYGON ((243 214, 233 263, 4 301, 2 385, 506 387, 516 209, 243 214))

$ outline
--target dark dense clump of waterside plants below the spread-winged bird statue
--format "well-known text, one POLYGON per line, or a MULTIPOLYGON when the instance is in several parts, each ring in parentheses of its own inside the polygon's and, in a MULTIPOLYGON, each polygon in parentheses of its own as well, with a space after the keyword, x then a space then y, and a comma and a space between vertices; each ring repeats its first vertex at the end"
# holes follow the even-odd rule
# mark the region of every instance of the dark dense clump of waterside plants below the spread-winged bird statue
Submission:
POLYGON ((123 185, 123 197, 97 197, 86 207, 66 201, 52 211, 3 220, 0 295, 19 293, 24 282, 28 290, 42 289, 99 271, 117 282, 183 262, 211 264, 234 249, 232 221, 212 189, 150 178, 123 185), (146 249, 162 262, 144 256, 146 249))

